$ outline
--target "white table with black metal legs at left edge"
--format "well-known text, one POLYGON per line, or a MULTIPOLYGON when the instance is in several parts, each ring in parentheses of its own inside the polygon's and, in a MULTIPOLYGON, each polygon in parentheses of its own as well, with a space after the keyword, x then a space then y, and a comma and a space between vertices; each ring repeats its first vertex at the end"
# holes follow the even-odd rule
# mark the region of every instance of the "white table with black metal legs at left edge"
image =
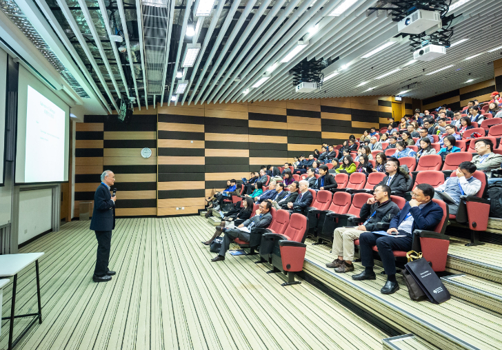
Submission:
POLYGON ((8 350, 12 350, 21 338, 30 330, 32 325, 34 325, 37 320, 42 323, 42 305, 40 300, 40 277, 39 277, 39 258, 43 256, 44 253, 28 253, 28 254, 7 254, 0 255, 0 278, 1 277, 12 277, 14 276, 14 282, 12 283, 12 307, 10 309, 10 316, 3 317, 2 320, 10 320, 9 327, 9 344, 8 350), (37 271, 37 296, 39 302, 39 312, 37 313, 26 313, 24 315, 14 315, 14 310, 16 307, 16 287, 17 287, 17 274, 19 271, 27 267, 28 265, 35 263, 35 270, 37 271), (35 318, 30 322, 30 325, 24 329, 21 335, 12 342, 12 334, 14 333, 14 318, 21 317, 32 317, 35 318))

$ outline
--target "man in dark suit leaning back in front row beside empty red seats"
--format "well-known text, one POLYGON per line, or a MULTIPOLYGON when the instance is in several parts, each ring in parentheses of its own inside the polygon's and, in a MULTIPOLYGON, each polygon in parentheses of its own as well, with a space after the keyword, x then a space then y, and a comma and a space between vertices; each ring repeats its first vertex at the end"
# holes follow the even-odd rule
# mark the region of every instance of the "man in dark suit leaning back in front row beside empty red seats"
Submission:
POLYGON ((252 218, 248 218, 248 220, 245 220, 236 228, 224 228, 223 232, 225 232, 225 237, 223 238, 221 249, 219 251, 219 254, 216 257, 212 258, 211 261, 214 262, 225 260, 225 253, 230 247, 230 242, 232 242, 232 240, 234 240, 235 238, 249 242, 250 232, 253 227, 268 227, 268 225, 272 223, 272 214, 270 214, 271 207, 272 203, 268 201, 263 202, 260 204, 259 209, 252 218))

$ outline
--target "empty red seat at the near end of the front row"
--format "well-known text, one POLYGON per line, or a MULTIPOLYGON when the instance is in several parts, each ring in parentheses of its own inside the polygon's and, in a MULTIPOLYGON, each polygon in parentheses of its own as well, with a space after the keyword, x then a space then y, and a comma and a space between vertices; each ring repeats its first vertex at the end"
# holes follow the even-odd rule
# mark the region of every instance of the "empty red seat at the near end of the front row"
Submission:
POLYGON ((288 228, 283 235, 265 234, 275 236, 275 247, 279 249, 272 250, 272 267, 269 272, 288 272, 288 282, 281 285, 297 285, 300 281, 294 280, 294 273, 303 269, 303 260, 305 260, 305 238, 308 230, 308 218, 301 214, 294 213, 290 217, 288 228), (277 239, 279 238, 279 239, 277 239))

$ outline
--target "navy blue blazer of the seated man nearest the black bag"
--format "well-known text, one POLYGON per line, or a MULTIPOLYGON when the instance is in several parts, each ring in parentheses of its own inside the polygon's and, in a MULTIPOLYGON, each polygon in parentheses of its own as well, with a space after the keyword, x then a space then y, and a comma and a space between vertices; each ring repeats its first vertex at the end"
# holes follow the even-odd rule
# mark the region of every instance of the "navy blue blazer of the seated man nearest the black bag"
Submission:
POLYGON ((437 224, 439 224, 441 218, 443 218, 443 209, 441 209, 441 207, 432 200, 422 209, 419 207, 410 207, 410 202, 406 202, 401 212, 394 216, 394 218, 390 221, 389 228, 396 229, 399 227, 408 213, 412 213, 414 218, 412 232, 415 229, 426 229, 432 231, 437 224))

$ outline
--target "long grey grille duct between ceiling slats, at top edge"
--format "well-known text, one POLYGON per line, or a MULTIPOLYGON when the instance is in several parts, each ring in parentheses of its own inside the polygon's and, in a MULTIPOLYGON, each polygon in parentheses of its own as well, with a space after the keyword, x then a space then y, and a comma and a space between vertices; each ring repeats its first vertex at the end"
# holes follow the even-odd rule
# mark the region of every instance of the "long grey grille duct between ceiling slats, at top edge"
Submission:
POLYGON ((169 9, 167 0, 143 0, 143 42, 145 45, 145 93, 162 94, 169 9))

